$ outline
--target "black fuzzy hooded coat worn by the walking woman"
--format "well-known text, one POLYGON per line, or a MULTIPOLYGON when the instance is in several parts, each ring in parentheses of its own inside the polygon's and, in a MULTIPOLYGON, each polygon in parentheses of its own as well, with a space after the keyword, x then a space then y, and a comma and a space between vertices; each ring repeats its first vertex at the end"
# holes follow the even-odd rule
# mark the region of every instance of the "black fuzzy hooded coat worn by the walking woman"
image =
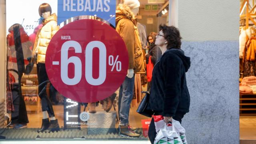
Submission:
POLYGON ((153 69, 147 109, 162 116, 189 112, 190 96, 186 84, 189 68, 190 58, 183 50, 166 50, 153 69))

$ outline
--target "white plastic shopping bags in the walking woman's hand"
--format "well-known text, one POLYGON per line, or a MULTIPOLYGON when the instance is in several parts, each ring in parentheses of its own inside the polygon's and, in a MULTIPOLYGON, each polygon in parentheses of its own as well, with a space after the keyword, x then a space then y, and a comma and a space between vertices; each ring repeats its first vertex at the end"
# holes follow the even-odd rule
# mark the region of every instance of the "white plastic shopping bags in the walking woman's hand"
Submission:
POLYGON ((172 119, 172 124, 164 122, 163 116, 153 116, 156 126, 156 138, 154 144, 188 144, 185 129, 180 122, 172 119))

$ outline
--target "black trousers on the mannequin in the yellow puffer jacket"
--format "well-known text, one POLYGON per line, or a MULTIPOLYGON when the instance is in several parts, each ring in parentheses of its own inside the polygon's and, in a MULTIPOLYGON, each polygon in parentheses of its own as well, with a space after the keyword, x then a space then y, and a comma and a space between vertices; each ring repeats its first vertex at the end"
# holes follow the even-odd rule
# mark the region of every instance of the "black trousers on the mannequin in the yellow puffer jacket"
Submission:
POLYGON ((49 117, 54 117, 54 110, 52 108, 52 102, 46 94, 46 86, 50 82, 46 74, 45 64, 37 64, 38 74, 38 96, 41 99, 42 111, 47 111, 49 117))

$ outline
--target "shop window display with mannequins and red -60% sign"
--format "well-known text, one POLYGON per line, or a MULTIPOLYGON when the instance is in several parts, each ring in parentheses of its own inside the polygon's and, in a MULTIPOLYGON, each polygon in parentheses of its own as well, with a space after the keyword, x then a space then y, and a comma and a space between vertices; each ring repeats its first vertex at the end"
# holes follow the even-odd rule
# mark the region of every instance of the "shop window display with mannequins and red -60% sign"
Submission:
POLYGON ((144 3, 23 1, 6 2, 10 116, 0 136, 148 140, 150 119, 136 112, 147 91, 144 3))

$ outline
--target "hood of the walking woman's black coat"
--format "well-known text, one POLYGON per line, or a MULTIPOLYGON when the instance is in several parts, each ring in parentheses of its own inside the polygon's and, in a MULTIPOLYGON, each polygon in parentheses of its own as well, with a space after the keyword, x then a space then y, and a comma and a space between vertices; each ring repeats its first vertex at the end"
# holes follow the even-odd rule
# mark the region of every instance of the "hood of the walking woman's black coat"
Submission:
POLYGON ((185 56, 184 54, 184 51, 181 50, 181 49, 176 49, 176 48, 172 48, 170 50, 166 50, 166 52, 164 52, 164 54, 162 55, 162 57, 165 55, 165 54, 176 54, 183 62, 184 66, 185 66, 185 70, 186 72, 188 72, 188 69, 190 68, 190 57, 188 56, 185 56))

